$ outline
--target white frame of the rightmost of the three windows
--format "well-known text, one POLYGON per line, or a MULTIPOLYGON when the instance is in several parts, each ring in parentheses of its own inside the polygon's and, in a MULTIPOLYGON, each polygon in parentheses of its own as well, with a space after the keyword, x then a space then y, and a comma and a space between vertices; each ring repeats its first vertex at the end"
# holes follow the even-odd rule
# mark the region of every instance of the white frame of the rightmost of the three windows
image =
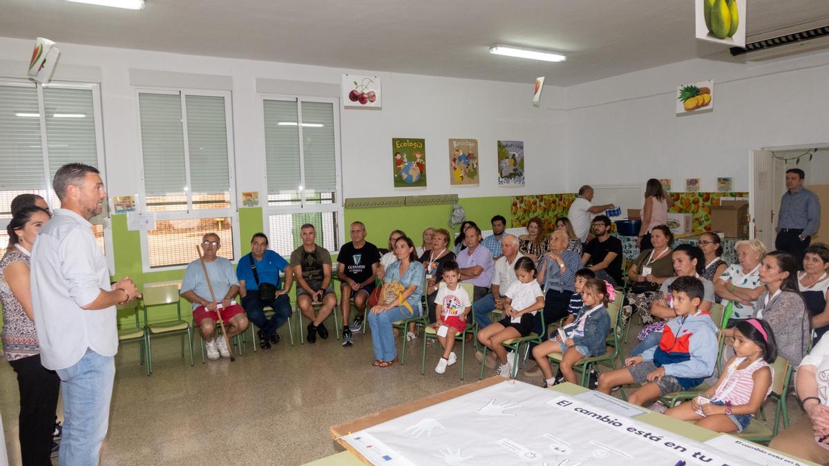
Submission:
MULTIPOLYGON (((284 95, 284 94, 269 94, 259 93, 259 129, 262 134, 262 153, 264 155, 264 177, 262 177, 260 192, 264 192, 264 196, 259 197, 260 206, 262 206, 262 225, 265 231, 270 231, 270 219, 272 215, 286 215, 286 214, 308 214, 308 213, 324 213, 334 212, 338 215, 337 229, 337 244, 342 247, 345 243, 345 209, 344 199, 342 198, 342 149, 340 144, 340 99, 338 97, 322 97, 322 96, 308 96, 308 95, 284 95), (300 192, 300 202, 293 205, 271 206, 268 200, 268 154, 266 152, 266 143, 264 139, 265 123, 264 123, 264 102, 265 100, 282 100, 288 102, 296 102, 297 104, 297 129, 299 136, 299 172, 300 182, 303 190, 300 192), (334 172, 335 172, 335 186, 336 186, 336 201, 330 204, 310 203, 305 201, 305 156, 303 148, 303 125, 302 123, 302 104, 303 102, 318 102, 324 104, 332 104, 332 113, 334 121, 334 172)), ((319 243, 318 243, 319 244, 319 243)), ((338 254, 336 251, 328 251, 332 255, 338 254)))

